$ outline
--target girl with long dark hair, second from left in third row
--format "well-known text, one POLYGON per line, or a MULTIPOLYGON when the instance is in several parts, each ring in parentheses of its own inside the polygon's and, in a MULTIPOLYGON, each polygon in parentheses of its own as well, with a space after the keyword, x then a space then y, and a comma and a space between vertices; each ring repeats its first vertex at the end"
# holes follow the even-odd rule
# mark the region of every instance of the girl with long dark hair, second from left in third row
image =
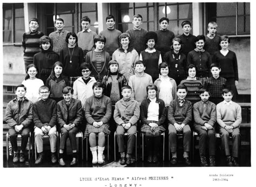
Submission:
POLYGON ((59 102, 63 100, 62 91, 63 88, 68 85, 68 78, 62 75, 63 64, 57 61, 52 66, 51 75, 46 80, 45 86, 50 89, 50 98, 59 102))

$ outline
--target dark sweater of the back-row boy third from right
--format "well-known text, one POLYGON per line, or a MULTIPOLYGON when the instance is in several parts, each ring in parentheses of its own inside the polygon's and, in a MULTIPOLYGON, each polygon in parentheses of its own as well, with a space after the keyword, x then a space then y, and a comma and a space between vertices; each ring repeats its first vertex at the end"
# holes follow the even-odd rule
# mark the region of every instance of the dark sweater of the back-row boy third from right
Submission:
POLYGON ((161 52, 161 56, 163 57, 167 51, 170 51, 170 47, 172 45, 172 39, 175 37, 174 33, 169 30, 157 30, 157 43, 154 48, 161 52))

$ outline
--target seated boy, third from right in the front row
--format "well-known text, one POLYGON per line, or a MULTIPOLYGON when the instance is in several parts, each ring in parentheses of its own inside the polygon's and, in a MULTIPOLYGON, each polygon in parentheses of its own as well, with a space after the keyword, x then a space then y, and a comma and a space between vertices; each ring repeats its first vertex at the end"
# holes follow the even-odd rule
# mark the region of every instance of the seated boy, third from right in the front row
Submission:
POLYGON ((186 100, 187 87, 183 84, 177 86, 178 98, 172 100, 168 111, 169 142, 172 153, 171 164, 177 164, 177 133, 183 134, 183 157, 186 165, 191 162, 188 158, 191 144, 190 122, 192 120, 192 103, 186 100))

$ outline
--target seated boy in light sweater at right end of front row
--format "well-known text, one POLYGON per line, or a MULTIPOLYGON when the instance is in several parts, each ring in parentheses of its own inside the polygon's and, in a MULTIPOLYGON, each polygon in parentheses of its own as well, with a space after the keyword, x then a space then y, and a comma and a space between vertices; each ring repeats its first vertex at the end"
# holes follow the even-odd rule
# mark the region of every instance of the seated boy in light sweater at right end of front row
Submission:
POLYGON ((239 126, 242 121, 241 107, 238 103, 232 101, 233 92, 230 89, 223 89, 222 96, 224 101, 220 102, 216 107, 221 144, 225 150, 227 165, 239 166, 237 158, 240 143, 239 126), (232 135, 232 157, 229 145, 230 135, 232 135))

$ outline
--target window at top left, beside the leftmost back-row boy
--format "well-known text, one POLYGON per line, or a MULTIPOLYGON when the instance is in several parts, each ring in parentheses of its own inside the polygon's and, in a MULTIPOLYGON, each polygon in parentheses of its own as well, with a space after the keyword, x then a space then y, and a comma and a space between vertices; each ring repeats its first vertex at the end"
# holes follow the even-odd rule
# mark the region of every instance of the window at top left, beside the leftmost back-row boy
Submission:
POLYGON ((25 32, 23 3, 3 4, 3 43, 22 43, 25 32))

